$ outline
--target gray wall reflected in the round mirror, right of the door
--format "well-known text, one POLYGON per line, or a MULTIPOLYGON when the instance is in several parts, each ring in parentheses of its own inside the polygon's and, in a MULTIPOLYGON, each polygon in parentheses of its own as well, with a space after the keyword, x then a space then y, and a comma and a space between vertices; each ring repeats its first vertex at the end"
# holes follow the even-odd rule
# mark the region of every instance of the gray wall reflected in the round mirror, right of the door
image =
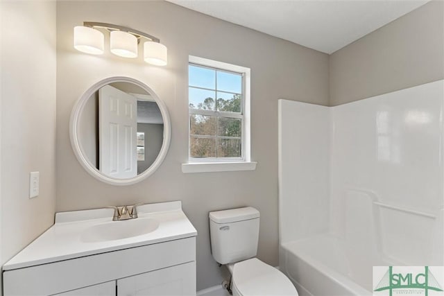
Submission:
POLYGON ((159 155, 164 140, 164 125, 137 123, 137 132, 145 133, 145 160, 137 161, 137 173, 143 173, 159 155))

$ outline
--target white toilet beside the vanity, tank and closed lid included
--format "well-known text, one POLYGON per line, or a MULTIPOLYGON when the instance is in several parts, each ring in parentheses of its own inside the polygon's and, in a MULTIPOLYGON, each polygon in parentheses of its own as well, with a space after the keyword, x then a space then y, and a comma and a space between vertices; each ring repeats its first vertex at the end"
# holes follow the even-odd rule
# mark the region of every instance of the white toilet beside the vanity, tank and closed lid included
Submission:
POLYGON ((297 296, 298 291, 288 277, 255 258, 259 216, 253 207, 210 212, 212 255, 230 270, 234 296, 297 296))

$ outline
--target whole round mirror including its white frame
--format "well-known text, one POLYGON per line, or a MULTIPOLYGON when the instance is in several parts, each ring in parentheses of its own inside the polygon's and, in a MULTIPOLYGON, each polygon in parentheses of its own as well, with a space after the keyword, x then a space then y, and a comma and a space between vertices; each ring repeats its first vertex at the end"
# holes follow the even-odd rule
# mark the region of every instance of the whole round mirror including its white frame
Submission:
POLYGON ((169 148, 167 107, 144 83, 112 77, 89 87, 71 113, 71 144, 80 164, 114 185, 144 180, 169 148))

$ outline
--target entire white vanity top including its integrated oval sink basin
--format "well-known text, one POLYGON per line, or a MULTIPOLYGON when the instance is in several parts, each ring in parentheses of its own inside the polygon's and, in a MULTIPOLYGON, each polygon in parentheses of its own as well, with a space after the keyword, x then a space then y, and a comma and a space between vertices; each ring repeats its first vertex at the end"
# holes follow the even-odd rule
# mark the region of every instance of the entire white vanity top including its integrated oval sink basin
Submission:
MULTIPOLYGON (((196 229, 182 211, 180 201, 143 204, 137 208, 137 213, 139 218, 123 221, 112 221, 111 209, 57 213, 54 225, 5 263, 3 272, 71 259, 83 260, 86 256, 178 241, 197 235, 196 229)), ((38 281, 40 283, 40 278, 38 281)), ((29 286, 22 283, 18 285, 29 286)), ((15 295, 35 294, 31 292, 15 295)), ((41 294, 53 295, 56 292, 41 294)))

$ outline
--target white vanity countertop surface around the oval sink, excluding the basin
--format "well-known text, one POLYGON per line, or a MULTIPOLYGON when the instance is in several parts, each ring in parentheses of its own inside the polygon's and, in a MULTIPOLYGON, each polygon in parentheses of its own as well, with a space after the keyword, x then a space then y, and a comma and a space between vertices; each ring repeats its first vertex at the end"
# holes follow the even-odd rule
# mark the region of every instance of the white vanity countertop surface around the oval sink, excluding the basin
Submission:
POLYGON ((152 218, 159 222, 159 227, 153 232, 114 241, 92 243, 82 241, 81 236, 89 227, 105 223, 126 223, 130 221, 112 221, 113 213, 113 209, 57 213, 56 223, 19 254, 6 262, 3 265, 3 270, 25 268, 197 235, 196 229, 182 211, 182 203, 176 201, 144 204, 137 207, 139 216, 137 219, 152 218))

